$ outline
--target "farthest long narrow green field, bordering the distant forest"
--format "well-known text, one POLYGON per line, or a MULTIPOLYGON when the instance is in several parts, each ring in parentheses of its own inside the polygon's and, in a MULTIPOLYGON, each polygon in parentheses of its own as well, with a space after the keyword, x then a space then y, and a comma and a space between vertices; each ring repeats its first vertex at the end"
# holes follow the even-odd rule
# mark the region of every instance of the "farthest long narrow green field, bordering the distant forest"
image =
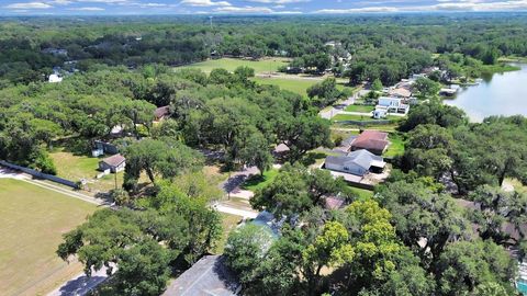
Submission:
POLYGON ((277 72, 278 68, 281 66, 287 66, 289 62, 288 58, 264 58, 260 60, 248 60, 239 58, 221 58, 221 59, 210 59, 201 62, 195 62, 188 66, 178 67, 181 68, 191 68, 191 69, 201 69, 204 72, 211 72, 213 69, 223 68, 227 71, 234 71, 240 66, 246 66, 255 69, 256 73, 264 72, 277 72))

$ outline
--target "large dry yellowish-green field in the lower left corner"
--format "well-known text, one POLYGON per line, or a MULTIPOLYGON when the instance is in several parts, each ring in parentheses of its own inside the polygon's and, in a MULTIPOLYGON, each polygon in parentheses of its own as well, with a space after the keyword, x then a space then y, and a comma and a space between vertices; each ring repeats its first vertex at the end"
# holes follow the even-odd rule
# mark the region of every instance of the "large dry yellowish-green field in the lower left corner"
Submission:
POLYGON ((44 295, 81 272, 55 251, 94 205, 11 179, 0 179, 0 294, 44 295))

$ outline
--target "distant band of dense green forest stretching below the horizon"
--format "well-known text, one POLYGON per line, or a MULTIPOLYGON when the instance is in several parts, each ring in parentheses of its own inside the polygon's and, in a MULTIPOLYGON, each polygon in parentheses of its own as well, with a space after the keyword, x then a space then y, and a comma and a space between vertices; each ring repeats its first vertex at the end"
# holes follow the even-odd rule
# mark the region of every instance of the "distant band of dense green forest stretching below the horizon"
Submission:
POLYGON ((523 13, 215 16, 212 27, 208 16, 9 18, 0 20, 0 80, 43 80, 66 60, 83 70, 93 62, 173 66, 224 55, 294 58, 329 54, 325 44, 336 42, 352 56, 352 80, 377 76, 390 83, 429 66, 431 54, 484 64, 526 56, 526 27, 523 13))

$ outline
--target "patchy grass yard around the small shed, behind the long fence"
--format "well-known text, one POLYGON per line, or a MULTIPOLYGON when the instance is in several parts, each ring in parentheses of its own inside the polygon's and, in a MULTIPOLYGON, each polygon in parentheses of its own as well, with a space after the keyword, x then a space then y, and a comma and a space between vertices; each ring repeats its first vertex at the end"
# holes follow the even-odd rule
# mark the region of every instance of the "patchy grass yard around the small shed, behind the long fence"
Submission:
MULTIPOLYGON (((92 193, 108 192, 115 187, 115 174, 108 174, 99 180, 96 178, 101 173, 98 171, 99 161, 104 157, 77 156, 63 148, 57 148, 49 155, 57 168, 58 177, 74 182, 86 179, 88 181, 86 187, 92 193)), ((123 184, 123 172, 117 173, 117 186, 123 184)))

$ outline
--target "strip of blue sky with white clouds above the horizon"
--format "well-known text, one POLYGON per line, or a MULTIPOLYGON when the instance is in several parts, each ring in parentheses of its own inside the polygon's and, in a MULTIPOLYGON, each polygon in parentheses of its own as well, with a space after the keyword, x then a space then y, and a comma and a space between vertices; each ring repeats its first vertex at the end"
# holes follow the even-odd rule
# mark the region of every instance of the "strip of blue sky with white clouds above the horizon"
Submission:
POLYGON ((527 0, 0 0, 0 14, 322 14, 527 11, 527 0))

